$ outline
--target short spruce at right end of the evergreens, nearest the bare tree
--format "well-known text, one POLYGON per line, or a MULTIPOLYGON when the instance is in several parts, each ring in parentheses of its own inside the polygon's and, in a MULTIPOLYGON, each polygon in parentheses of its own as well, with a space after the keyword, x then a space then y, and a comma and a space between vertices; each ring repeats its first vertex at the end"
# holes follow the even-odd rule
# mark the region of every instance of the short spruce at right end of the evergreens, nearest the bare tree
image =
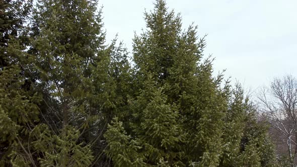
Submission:
POLYGON ((219 166, 276 166, 268 126, 258 122, 256 108, 240 84, 232 90, 225 117, 223 154, 219 166))

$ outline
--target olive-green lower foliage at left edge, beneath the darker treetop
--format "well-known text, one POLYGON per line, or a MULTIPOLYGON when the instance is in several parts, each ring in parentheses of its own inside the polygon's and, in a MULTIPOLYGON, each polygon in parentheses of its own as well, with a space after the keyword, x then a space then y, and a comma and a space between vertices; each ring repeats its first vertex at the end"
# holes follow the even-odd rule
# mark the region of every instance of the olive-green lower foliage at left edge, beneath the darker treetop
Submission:
MULTIPOLYGON (((8 54, 25 56, 21 49, 22 47, 10 43, 8 54)), ((24 89, 27 79, 18 65, 4 67, 0 71, 0 80, 0 122, 2 125, 0 164, 8 165, 9 161, 14 163, 20 154, 24 155, 23 158, 29 159, 30 163, 34 163, 30 147, 25 148, 25 146, 32 144, 33 139, 29 140, 30 132, 39 122, 40 96, 32 94, 30 87, 29 90, 24 89)))

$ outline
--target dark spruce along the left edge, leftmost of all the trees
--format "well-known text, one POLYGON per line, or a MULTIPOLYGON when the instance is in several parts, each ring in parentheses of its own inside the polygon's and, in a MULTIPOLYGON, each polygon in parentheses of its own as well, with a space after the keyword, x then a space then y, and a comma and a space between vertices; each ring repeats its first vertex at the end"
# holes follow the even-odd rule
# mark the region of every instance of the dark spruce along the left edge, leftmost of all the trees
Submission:
POLYGON ((30 132, 39 122, 40 97, 28 80, 25 52, 31 10, 32 1, 0 2, 0 166, 36 165, 30 132))

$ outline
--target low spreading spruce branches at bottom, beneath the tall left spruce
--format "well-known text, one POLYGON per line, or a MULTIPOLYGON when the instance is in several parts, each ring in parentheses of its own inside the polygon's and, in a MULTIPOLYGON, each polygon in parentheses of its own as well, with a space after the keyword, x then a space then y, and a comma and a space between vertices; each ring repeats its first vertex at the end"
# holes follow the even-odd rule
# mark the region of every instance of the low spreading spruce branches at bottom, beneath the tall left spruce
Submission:
POLYGON ((43 156, 39 157, 40 166, 89 166, 92 164, 90 145, 77 143, 80 132, 67 126, 66 133, 53 134, 48 126, 36 126, 32 137, 38 138, 33 142, 34 149, 43 156))

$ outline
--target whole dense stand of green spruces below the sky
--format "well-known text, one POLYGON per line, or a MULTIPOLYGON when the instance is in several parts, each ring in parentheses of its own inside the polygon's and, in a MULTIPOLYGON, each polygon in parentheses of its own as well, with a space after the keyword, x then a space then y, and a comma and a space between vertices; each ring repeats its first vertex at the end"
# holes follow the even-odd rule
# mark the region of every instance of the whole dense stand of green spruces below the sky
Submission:
POLYGON ((277 166, 266 122, 164 0, 133 65, 97 0, 32 4, 0 1, 0 166, 277 166))

